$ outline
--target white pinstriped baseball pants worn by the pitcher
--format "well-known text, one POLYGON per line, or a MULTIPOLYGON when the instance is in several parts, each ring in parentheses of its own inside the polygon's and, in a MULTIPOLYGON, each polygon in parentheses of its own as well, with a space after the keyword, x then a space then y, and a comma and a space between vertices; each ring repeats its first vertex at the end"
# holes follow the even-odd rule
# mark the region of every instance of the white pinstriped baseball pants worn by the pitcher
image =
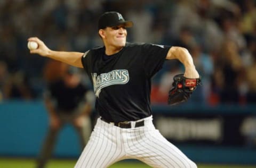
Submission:
POLYGON ((144 120, 143 127, 125 129, 99 118, 75 168, 108 167, 123 159, 138 159, 152 167, 197 167, 155 129, 152 116, 144 120))

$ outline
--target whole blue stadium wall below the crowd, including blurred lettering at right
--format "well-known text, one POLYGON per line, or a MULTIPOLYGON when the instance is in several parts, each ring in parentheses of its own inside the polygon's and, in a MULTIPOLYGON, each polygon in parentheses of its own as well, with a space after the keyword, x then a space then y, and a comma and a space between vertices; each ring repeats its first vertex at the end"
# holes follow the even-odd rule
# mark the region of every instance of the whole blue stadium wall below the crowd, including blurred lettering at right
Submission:
MULTIPOLYGON (((153 106, 156 128, 197 163, 256 164, 256 106, 153 106)), ((97 114, 92 114, 95 122, 97 114)), ((93 124, 94 124, 93 122, 93 124)), ((49 123, 41 100, 0 103, 0 156, 36 157, 49 123)), ((75 129, 67 125, 55 157, 81 153, 75 129)))

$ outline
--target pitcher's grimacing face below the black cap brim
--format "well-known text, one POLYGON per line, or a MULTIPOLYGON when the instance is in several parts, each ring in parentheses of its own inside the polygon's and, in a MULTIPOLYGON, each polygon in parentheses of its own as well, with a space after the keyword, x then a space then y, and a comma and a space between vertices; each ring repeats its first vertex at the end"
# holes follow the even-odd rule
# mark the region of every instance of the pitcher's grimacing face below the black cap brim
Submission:
POLYGON ((107 27, 104 29, 105 45, 113 47, 124 47, 126 43, 127 31, 125 26, 119 25, 115 27, 107 27))

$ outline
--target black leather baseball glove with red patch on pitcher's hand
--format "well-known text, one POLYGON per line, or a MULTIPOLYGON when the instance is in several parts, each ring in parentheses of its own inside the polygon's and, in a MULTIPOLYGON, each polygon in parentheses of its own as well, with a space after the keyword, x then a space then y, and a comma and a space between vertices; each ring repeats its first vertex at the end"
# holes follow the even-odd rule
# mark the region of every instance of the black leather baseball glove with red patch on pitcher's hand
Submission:
POLYGON ((168 104, 175 105, 187 102, 197 85, 201 85, 201 76, 197 79, 190 79, 184 77, 184 74, 175 75, 173 77, 173 87, 169 91, 168 104))

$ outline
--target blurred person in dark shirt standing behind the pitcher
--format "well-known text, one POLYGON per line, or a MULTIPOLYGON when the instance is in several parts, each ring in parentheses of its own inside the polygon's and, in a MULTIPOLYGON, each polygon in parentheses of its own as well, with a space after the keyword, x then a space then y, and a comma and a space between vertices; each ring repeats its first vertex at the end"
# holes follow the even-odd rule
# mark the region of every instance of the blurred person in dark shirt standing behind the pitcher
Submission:
POLYGON ((59 131, 67 123, 77 130, 81 150, 85 147, 91 133, 90 113, 94 97, 90 89, 82 83, 77 69, 58 61, 50 61, 44 72, 47 81, 44 102, 50 125, 37 161, 38 168, 45 166, 53 152, 59 131))

